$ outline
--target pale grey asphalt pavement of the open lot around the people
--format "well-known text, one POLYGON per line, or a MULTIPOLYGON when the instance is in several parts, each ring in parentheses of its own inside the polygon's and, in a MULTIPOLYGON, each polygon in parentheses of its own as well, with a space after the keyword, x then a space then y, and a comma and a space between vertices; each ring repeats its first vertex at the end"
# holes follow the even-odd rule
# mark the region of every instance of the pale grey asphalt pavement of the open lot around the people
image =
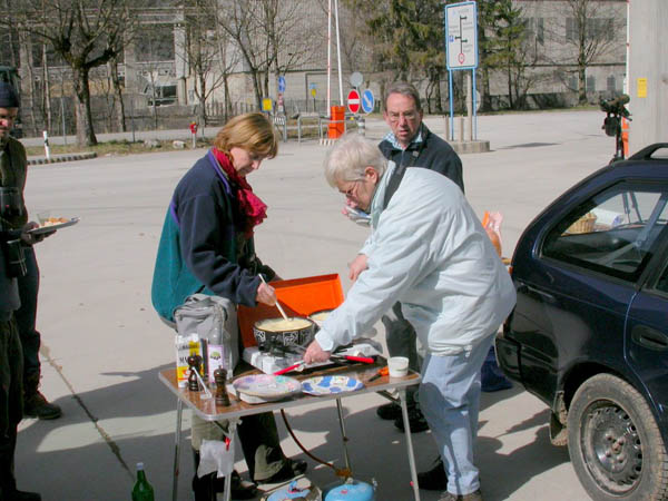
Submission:
MULTIPOLYGON (((489 140, 491 151, 462 156, 466 197, 480 217, 484 210, 502 213, 505 256, 546 205, 608 163, 615 145, 601 130, 602 119, 597 111, 478 118, 478 138, 489 140)), ((425 122, 436 134, 445 129, 442 117, 425 122)), ((381 120, 367 121, 371 139, 385 131, 381 120)), ((338 273, 347 289, 346 263, 367 229, 340 214, 343 199, 323 176, 325 151, 314 140, 281 144, 278 157, 249 177, 269 206, 256 247, 284 278, 338 273)), ((42 391, 63 416, 21 423, 16 471, 19 487, 41 492, 45 501, 129 499, 138 461, 156 500, 170 499, 176 402, 157 374, 175 363, 174 333, 151 307, 150 282, 171 191, 204 154, 174 150, 30 167, 29 210, 81 218, 37 247, 42 391)), ((404 435, 376 418, 383 402, 375 394, 343 401, 353 472, 376 480, 379 501, 407 501, 413 498, 404 435)), ((567 449, 549 442, 548 418, 548 407, 517 384, 483 394, 475 452, 485 501, 588 499, 567 449)), ((343 465, 335 406, 289 410, 288 420, 315 455, 343 465)), ((277 422, 285 452, 307 459, 279 415, 277 422)), ((430 468, 431 434, 414 434, 413 441, 418 469, 430 468)), ((181 445, 178 499, 187 500, 193 474, 187 433, 181 445)), ((238 451, 237 456, 244 474, 238 451)), ((335 480, 307 461, 318 484, 335 480)), ((422 500, 438 498, 421 491, 422 500)))

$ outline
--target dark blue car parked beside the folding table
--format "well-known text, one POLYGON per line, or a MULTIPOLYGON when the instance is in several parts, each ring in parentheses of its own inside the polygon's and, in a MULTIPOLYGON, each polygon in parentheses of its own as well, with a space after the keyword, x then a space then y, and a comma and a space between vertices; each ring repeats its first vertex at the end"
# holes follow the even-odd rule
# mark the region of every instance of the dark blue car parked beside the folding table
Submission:
POLYGON ((595 500, 668 499, 668 144, 569 189, 524 230, 503 372, 552 410, 595 500))

